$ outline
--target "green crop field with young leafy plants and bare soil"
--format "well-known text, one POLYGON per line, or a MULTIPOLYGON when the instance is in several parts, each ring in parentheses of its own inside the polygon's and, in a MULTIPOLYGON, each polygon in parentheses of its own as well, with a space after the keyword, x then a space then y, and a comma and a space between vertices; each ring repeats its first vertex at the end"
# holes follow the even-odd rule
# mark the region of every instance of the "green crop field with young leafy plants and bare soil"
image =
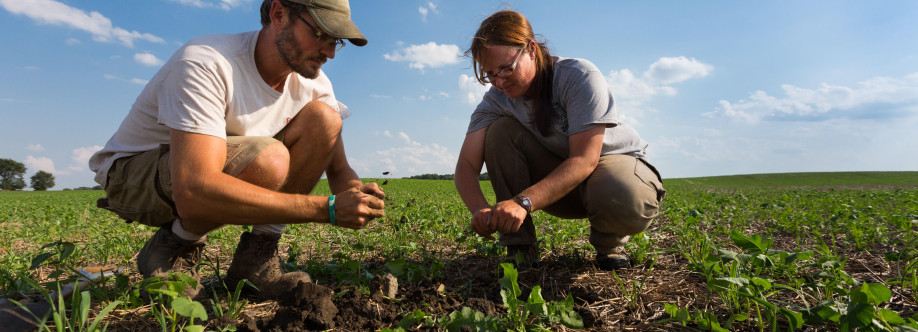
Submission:
MULTIPOLYGON (((505 271, 505 249, 469 230, 452 182, 441 180, 388 179, 384 220, 360 231, 291 225, 282 252, 288 268, 334 292, 339 311, 331 330, 918 329, 918 172, 664 185, 661 217, 627 245, 635 266, 616 273, 592 266, 586 220, 541 212, 535 222, 543 264, 505 271), (398 278, 394 298, 374 295, 372 280, 386 273, 398 278)), ((327 191, 324 183, 316 190, 327 191)), ((240 227, 209 236, 203 282, 213 296, 151 304, 138 296, 146 283, 132 257, 153 230, 95 208, 102 195, 0 192, 0 298, 40 301, 29 280, 53 291, 53 281, 81 267, 115 266, 123 272, 88 286, 86 305, 56 305, 63 318, 49 320, 47 329, 86 330, 80 322, 97 316, 100 326, 118 331, 271 327, 284 303, 245 292, 237 298, 234 285, 228 292, 221 283, 240 227), (111 311, 102 310, 111 303, 111 311), (205 319, 187 318, 186 305, 194 304, 205 319)))

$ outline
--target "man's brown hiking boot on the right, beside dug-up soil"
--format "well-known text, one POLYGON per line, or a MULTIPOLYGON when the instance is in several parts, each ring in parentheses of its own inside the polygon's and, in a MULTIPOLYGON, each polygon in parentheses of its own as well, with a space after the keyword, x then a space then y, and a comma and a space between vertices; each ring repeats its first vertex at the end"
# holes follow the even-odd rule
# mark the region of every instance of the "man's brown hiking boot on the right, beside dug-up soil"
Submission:
POLYGON ((299 282, 312 282, 309 273, 283 270, 277 255, 279 240, 280 234, 242 233, 233 262, 226 271, 227 284, 235 285, 242 279, 248 279, 262 295, 277 297, 296 288, 299 282))

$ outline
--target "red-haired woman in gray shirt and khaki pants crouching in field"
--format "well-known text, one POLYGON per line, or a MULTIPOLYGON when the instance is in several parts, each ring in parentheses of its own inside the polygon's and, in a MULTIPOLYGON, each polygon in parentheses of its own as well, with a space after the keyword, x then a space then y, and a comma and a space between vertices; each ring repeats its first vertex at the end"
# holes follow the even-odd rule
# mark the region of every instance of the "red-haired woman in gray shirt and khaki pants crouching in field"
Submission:
POLYGON ((500 243, 522 267, 539 262, 532 212, 589 218, 596 266, 629 267, 622 249, 647 229, 666 191, 645 160, 647 143, 616 116, 599 69, 553 57, 529 21, 504 10, 481 23, 466 55, 491 89, 472 113, 456 188, 472 212, 472 229, 500 243), (486 164, 497 204, 478 184, 486 164))

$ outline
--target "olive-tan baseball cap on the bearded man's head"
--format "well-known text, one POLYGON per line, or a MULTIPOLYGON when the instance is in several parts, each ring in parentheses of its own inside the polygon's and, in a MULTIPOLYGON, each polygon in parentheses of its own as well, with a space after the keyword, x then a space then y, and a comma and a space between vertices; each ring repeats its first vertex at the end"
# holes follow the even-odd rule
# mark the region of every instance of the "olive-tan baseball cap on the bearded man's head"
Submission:
POLYGON ((360 33, 357 25, 351 21, 351 7, 348 0, 289 0, 306 5, 309 15, 316 20, 319 28, 325 33, 341 39, 347 39, 351 44, 363 46, 367 38, 360 33))

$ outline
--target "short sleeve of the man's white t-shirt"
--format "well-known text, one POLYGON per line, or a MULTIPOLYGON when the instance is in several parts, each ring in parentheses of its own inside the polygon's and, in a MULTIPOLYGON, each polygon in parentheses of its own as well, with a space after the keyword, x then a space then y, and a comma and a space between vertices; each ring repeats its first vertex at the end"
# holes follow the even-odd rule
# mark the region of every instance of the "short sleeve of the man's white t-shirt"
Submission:
POLYGON ((214 67, 181 60, 159 82, 159 118, 169 128, 226 139, 226 82, 214 67))

